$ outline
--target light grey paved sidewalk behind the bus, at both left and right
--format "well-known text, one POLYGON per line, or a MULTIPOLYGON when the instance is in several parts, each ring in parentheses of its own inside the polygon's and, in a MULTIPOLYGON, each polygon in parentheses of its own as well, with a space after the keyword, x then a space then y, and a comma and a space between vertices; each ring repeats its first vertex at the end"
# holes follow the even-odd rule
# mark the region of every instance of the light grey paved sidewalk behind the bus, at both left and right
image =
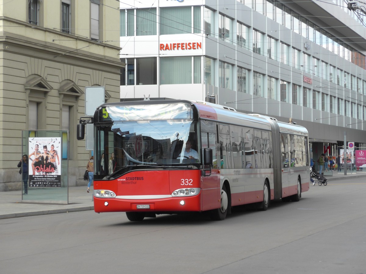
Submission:
MULTIPOLYGON (((347 176, 344 176, 343 172, 333 171, 332 173, 333 176, 324 175, 328 182, 366 177, 366 172, 351 174, 350 171, 347 171, 347 176)), ((29 192, 31 191, 30 189, 29 192)), ((70 187, 68 197, 68 204, 30 203, 22 202, 22 192, 20 190, 0 192, 0 219, 94 210, 92 189, 90 193, 87 193, 86 186, 70 187)))

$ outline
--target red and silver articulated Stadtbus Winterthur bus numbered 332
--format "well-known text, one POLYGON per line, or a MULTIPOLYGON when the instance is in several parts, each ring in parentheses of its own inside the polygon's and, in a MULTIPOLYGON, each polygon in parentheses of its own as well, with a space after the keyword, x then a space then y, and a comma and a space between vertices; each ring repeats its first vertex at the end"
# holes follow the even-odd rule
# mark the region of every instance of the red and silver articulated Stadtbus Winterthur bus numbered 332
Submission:
POLYGON ((309 190, 308 133, 293 123, 187 100, 106 103, 91 122, 97 213, 141 221, 210 211, 224 220, 233 206, 266 210, 309 190))

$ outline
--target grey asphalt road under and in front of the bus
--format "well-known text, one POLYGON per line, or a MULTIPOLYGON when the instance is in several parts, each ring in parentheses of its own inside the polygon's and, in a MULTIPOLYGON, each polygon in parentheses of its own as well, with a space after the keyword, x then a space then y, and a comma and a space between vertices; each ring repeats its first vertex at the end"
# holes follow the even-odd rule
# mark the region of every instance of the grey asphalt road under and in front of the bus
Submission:
POLYGON ((0 220, 0 273, 366 273, 364 180, 224 221, 93 211, 0 220))

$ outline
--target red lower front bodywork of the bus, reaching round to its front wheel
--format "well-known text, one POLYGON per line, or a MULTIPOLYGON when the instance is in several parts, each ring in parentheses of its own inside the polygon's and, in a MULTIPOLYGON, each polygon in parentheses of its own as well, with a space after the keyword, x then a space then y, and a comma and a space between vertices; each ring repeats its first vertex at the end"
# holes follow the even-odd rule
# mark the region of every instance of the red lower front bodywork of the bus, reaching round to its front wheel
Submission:
POLYGON ((94 195, 95 212, 200 212, 220 207, 219 176, 202 179, 198 169, 131 171, 112 181, 94 180, 94 190, 101 189, 113 191, 115 197, 94 195), (191 189, 195 195, 188 195, 191 189), (179 190, 184 194, 173 194, 179 190), (148 205, 148 209, 137 205, 148 205))

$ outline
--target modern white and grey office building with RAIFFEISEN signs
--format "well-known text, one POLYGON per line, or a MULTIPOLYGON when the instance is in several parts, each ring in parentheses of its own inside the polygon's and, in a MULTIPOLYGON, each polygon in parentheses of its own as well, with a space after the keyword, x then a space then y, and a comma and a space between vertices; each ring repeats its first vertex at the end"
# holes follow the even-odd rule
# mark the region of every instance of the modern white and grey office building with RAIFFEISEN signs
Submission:
POLYGON ((366 147, 365 7, 347 1, 120 3, 121 100, 216 98, 309 130, 314 158, 366 147))

